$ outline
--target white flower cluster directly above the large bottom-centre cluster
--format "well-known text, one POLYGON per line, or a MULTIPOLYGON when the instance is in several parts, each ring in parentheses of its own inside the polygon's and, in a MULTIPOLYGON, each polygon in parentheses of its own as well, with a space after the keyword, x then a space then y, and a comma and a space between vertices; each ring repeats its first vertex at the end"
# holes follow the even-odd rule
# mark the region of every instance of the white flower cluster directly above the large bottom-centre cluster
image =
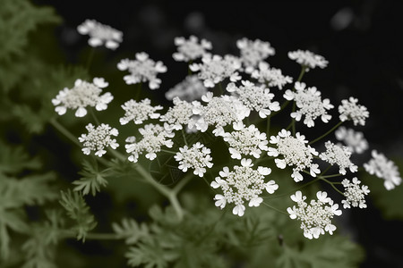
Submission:
POLYGON ((266 133, 261 133, 254 125, 245 127, 242 121, 233 123, 234 130, 225 132, 222 136, 229 145, 229 153, 234 159, 241 159, 241 155, 261 157, 262 151, 267 151, 269 141, 266 133))

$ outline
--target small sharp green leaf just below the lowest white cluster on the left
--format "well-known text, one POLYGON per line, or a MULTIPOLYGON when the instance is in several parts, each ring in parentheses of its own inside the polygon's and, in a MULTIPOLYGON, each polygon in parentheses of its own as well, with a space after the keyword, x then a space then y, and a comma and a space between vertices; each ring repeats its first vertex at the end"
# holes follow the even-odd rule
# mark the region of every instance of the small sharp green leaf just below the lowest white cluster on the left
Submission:
POLYGON ((73 181, 74 191, 81 191, 82 195, 88 195, 90 192, 95 196, 100 191, 101 187, 107 186, 107 175, 110 173, 109 169, 99 171, 99 165, 96 160, 84 160, 83 170, 80 172, 82 178, 73 181))

